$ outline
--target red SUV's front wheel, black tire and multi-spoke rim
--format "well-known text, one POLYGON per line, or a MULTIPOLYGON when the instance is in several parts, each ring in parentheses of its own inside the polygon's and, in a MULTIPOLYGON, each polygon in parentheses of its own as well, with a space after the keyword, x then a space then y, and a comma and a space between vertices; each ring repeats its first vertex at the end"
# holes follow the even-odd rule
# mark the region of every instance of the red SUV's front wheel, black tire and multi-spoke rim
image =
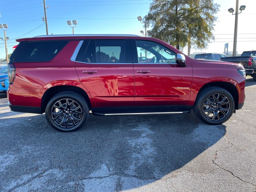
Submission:
POLYGON ((233 96, 220 87, 207 87, 200 91, 193 107, 194 114, 211 125, 226 122, 233 114, 235 102, 233 96))

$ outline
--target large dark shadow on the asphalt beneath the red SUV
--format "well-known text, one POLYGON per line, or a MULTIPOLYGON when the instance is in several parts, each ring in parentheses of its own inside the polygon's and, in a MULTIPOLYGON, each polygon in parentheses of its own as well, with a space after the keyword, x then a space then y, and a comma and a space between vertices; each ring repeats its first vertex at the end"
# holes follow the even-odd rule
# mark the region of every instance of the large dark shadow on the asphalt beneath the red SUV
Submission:
POLYGON ((84 127, 68 133, 51 128, 44 115, 1 121, 3 191, 137 188, 182 168, 226 131, 193 113, 90 116, 84 127))

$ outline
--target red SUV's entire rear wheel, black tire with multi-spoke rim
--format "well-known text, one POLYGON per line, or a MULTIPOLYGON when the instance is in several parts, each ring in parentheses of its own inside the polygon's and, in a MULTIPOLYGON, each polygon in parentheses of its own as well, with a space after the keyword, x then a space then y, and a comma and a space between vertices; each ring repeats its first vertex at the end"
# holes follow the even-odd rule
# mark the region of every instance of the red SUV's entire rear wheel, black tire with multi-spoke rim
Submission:
POLYGON ((70 91, 61 92, 49 100, 45 116, 54 129, 72 132, 85 124, 89 116, 89 107, 80 94, 70 91))

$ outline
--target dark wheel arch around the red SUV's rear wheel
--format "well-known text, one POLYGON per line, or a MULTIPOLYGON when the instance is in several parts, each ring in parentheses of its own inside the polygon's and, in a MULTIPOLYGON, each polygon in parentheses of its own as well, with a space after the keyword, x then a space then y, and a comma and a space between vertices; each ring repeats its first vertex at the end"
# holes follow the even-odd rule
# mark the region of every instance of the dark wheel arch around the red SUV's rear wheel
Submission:
POLYGON ((80 87, 77 86, 72 86, 72 85, 60 85, 60 86, 53 86, 51 88, 48 88, 46 90, 46 92, 44 92, 43 96, 42 96, 42 101, 41 101, 41 111, 42 113, 45 112, 45 108, 47 103, 49 102, 49 100, 56 94, 60 93, 60 92, 64 92, 64 91, 72 91, 72 92, 76 92, 80 95, 82 95, 86 102, 89 105, 89 108, 92 108, 92 103, 91 103, 91 99, 89 98, 88 94, 80 87))

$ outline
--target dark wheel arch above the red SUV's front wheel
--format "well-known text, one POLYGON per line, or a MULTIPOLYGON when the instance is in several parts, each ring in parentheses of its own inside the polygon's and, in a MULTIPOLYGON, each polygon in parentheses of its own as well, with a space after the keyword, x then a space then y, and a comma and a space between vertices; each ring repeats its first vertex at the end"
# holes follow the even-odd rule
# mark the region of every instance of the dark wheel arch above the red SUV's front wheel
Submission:
POLYGON ((210 86, 216 86, 216 87, 224 88, 228 92, 230 92, 230 94, 233 96, 234 101, 235 101, 235 109, 238 109, 238 90, 237 90, 237 88, 234 84, 232 84, 230 82, 223 82, 223 81, 208 82, 200 88, 200 90, 198 91, 197 96, 200 94, 200 92, 202 92, 204 90, 204 88, 210 87, 210 86))

